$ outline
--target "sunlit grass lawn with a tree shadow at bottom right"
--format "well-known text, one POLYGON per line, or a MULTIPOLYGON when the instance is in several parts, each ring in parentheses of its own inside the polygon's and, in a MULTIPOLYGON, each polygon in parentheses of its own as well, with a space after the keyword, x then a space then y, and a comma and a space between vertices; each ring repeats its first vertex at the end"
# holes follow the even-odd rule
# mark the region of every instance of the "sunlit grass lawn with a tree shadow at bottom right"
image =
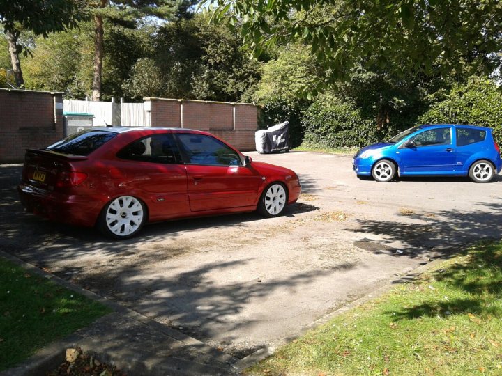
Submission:
POLYGON ((502 243, 480 243, 413 283, 278 350, 248 375, 502 375, 502 243))

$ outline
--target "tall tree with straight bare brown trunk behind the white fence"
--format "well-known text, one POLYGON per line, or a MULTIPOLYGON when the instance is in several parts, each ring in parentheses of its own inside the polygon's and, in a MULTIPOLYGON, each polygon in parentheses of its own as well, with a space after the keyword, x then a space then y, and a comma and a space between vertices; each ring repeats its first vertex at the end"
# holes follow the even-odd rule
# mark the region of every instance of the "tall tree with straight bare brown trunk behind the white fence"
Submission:
POLYGON ((188 14, 188 8, 197 0, 87 0, 88 9, 94 21, 94 68, 93 95, 97 101, 101 97, 101 79, 103 63, 103 19, 125 23, 142 17, 159 17, 161 19, 177 19, 188 14))

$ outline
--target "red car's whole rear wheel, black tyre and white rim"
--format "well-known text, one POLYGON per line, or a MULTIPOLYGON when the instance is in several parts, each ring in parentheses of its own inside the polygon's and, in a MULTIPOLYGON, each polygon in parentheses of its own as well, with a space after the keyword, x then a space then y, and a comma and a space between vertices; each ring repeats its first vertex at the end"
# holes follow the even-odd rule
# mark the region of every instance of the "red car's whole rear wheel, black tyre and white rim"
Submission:
POLYGON ((128 239, 143 228, 148 214, 144 203, 133 196, 120 196, 107 203, 98 218, 98 229, 113 239, 128 239))

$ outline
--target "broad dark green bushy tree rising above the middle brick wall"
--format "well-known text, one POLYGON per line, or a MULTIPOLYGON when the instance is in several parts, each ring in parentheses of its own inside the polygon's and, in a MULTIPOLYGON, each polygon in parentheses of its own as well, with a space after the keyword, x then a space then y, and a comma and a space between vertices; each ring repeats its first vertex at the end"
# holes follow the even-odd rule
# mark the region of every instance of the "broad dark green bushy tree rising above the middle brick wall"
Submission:
POLYGON ((151 33, 146 58, 123 85, 130 97, 177 97, 240 102, 259 80, 259 63, 241 50, 241 38, 196 14, 151 33), (152 79, 149 81, 149 75, 152 79))

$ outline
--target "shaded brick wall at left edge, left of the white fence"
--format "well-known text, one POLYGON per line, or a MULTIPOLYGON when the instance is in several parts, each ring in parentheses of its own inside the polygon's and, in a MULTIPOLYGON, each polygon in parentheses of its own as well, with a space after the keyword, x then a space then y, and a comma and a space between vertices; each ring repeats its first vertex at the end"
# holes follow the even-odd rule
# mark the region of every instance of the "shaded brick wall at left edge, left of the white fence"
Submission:
POLYGON ((23 162, 26 148, 63 138, 62 94, 0 88, 0 163, 23 162))

